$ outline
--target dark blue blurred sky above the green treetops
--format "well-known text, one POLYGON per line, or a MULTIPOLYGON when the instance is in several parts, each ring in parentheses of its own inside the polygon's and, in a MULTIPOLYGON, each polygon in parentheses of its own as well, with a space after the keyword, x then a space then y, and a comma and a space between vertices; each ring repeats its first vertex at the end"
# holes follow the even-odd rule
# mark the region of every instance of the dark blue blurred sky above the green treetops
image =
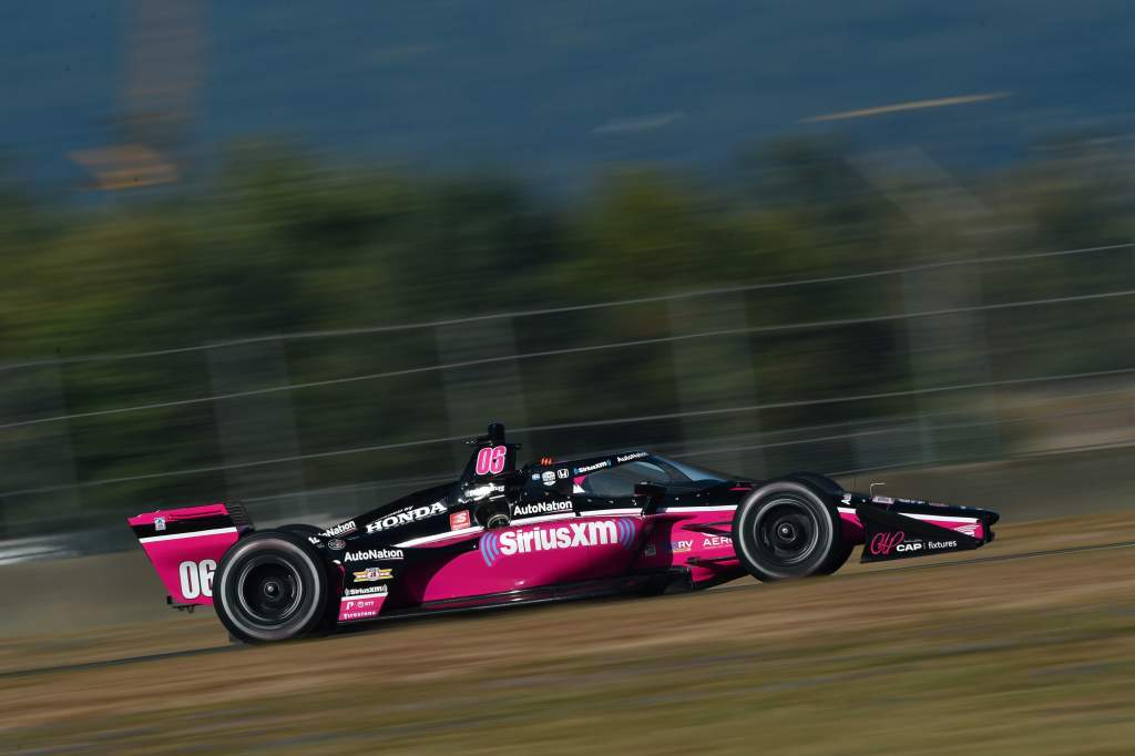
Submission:
MULTIPOLYGON (((612 161, 718 166, 755 140, 839 132, 945 162, 1130 124, 1135 14, 1115 0, 203 3, 186 140, 245 136, 560 182, 612 161), (1004 92, 829 124, 809 116, 1004 92)), ((0 10, 0 151, 69 177, 115 141, 121 0, 0 10)))

